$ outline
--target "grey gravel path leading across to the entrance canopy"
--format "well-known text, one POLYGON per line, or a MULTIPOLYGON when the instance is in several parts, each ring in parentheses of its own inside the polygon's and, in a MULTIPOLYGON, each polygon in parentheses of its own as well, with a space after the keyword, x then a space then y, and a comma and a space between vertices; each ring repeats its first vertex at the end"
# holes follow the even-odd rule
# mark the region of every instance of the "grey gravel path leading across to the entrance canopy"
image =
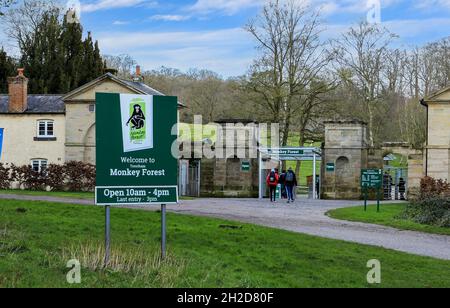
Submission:
MULTIPOLYGON (((54 197, 0 195, 0 199, 18 199, 92 205, 90 200, 54 197)), ((397 202, 398 203, 398 202, 397 202)), ((361 201, 298 200, 295 204, 255 199, 197 199, 168 206, 173 213, 224 218, 238 222, 384 247, 411 254, 450 260, 450 236, 401 231, 390 227, 329 218, 332 209, 361 205, 361 201)), ((389 206, 384 203, 383 206, 389 206)), ((149 209, 149 208, 146 208, 149 209)), ((156 210, 152 207, 150 210, 156 210)))

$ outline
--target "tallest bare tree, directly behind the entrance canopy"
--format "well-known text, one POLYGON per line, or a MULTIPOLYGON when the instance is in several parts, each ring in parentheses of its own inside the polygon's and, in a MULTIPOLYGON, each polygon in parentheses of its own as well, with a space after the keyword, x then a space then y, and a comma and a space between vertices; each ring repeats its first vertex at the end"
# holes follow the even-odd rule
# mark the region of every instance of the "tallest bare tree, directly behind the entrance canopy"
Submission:
POLYGON ((333 58, 320 39, 319 12, 295 1, 270 1, 246 30, 260 51, 247 89, 266 110, 267 120, 280 124, 281 144, 287 145, 289 133, 297 128, 303 145, 312 111, 322 102, 318 97, 328 91, 323 77, 333 58))

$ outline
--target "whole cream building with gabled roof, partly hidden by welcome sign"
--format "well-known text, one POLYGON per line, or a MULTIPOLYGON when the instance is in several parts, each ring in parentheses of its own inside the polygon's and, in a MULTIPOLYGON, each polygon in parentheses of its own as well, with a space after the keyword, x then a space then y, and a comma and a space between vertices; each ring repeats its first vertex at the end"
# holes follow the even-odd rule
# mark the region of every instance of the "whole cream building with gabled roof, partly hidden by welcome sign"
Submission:
POLYGON ((28 95, 23 70, 8 83, 9 94, 0 95, 0 162, 35 169, 66 161, 95 163, 95 93, 164 95, 142 82, 139 68, 133 81, 108 73, 66 95, 28 95))

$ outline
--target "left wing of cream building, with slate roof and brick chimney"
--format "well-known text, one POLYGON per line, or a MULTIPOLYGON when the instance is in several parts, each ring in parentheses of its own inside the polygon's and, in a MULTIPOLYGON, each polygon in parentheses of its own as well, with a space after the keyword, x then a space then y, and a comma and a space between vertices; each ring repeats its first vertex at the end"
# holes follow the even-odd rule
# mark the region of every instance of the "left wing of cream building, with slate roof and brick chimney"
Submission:
POLYGON ((61 95, 29 95, 24 71, 8 79, 9 95, 0 95, 3 147, 0 162, 30 164, 41 170, 65 161, 65 108, 61 95))

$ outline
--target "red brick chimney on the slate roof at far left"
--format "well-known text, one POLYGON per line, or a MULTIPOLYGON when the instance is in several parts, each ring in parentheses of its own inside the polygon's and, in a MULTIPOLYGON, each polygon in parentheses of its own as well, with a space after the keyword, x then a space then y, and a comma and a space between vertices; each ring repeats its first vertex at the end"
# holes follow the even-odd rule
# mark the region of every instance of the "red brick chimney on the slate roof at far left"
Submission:
POLYGON ((28 78, 25 77, 23 68, 19 68, 17 73, 17 77, 8 78, 8 112, 11 113, 23 113, 28 108, 28 78))

